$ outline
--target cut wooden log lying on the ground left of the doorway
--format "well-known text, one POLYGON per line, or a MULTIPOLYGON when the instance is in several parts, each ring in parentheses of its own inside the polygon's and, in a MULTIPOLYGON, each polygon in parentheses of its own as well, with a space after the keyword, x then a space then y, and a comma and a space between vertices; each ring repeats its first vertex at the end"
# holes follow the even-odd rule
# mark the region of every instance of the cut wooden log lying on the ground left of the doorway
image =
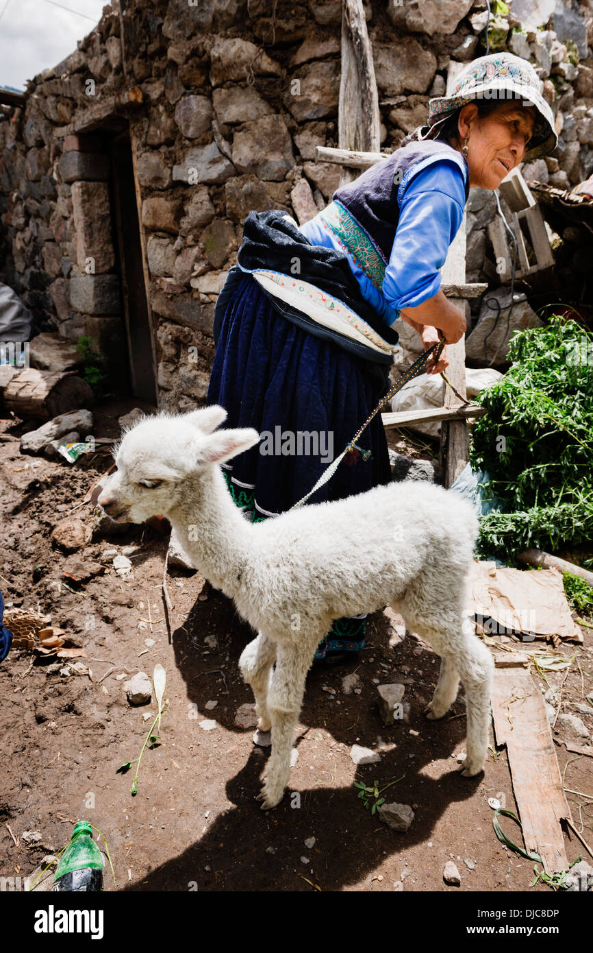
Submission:
POLYGON ((10 377, 2 390, 9 411, 26 419, 51 420, 59 414, 80 410, 93 403, 89 384, 71 372, 37 371, 28 368, 10 377))

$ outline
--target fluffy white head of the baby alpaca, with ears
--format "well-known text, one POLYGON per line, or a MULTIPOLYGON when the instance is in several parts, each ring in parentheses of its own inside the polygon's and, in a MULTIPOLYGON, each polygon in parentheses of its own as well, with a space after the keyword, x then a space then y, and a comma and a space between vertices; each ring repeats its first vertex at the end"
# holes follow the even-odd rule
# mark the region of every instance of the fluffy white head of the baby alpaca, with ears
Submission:
MULTIPOLYGON (((179 502, 183 483, 255 446, 250 428, 220 430, 227 411, 213 405, 190 414, 145 417, 125 432, 116 451, 117 470, 97 502, 109 517, 142 523, 167 516, 179 502)), ((196 499, 199 505, 199 500, 196 499)))

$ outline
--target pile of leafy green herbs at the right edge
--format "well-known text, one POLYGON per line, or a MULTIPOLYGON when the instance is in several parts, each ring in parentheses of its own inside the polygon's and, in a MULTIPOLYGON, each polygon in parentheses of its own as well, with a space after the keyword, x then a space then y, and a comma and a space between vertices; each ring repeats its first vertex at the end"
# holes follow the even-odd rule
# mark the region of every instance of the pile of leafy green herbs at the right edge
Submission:
POLYGON ((479 401, 470 462, 500 509, 481 517, 477 555, 508 563, 593 539, 593 335, 553 315, 516 332, 511 367, 479 401))

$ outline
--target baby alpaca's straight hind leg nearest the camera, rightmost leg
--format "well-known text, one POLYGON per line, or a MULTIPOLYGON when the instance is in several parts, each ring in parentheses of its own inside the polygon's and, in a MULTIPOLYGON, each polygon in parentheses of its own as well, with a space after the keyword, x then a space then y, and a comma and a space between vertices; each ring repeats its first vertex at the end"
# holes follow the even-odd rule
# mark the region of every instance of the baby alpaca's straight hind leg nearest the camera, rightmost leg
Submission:
POLYGON ((462 631, 463 639, 456 642, 453 662, 465 688, 467 756, 462 774, 465 778, 473 778, 483 770, 488 753, 494 659, 484 643, 474 635, 467 619, 464 619, 462 631))

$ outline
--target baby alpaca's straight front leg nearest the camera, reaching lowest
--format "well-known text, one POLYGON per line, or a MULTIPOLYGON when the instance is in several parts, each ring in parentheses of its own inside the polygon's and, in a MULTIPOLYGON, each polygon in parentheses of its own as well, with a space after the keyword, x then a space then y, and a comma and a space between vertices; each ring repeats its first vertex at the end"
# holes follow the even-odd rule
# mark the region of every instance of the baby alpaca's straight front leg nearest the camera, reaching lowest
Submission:
POLYGON ((306 673, 317 641, 311 645, 308 652, 296 646, 278 646, 276 667, 267 693, 272 723, 272 750, 267 762, 262 793, 258 795, 258 800, 263 801, 263 810, 275 807, 282 801, 288 783, 294 728, 303 703, 306 673))

